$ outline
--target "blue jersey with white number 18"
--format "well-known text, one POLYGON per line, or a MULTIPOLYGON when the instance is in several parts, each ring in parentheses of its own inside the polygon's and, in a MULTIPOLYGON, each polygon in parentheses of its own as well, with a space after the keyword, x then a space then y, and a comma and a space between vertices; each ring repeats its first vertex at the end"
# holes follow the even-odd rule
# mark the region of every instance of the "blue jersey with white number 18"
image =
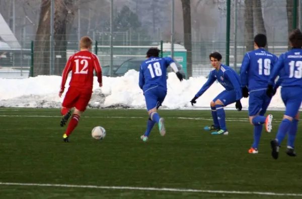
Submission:
POLYGON ((167 90, 167 68, 174 60, 171 57, 149 57, 140 64, 139 87, 143 92, 155 87, 167 90))

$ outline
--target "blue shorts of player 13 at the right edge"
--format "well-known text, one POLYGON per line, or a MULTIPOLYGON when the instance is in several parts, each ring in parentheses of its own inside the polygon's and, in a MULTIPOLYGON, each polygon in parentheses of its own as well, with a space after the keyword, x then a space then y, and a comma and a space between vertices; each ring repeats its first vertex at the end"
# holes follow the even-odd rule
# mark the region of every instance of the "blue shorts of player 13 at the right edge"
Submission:
POLYGON ((284 115, 294 117, 299 111, 302 102, 301 87, 282 87, 281 98, 285 105, 284 115))

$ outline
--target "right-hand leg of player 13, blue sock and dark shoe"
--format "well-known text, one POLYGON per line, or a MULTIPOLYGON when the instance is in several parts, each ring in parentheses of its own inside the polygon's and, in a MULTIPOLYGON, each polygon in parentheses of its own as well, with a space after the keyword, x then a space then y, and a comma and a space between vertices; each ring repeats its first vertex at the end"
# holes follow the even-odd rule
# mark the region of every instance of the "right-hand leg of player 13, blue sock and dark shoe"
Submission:
POLYGON ((298 129, 298 121, 300 118, 300 114, 299 111, 298 113, 295 115, 294 119, 291 122, 289 131, 288 131, 288 135, 287 135, 287 149, 286 149, 286 154, 289 156, 296 156, 296 153, 294 151, 294 141, 295 141, 295 137, 296 137, 296 133, 297 133, 297 129, 298 129))

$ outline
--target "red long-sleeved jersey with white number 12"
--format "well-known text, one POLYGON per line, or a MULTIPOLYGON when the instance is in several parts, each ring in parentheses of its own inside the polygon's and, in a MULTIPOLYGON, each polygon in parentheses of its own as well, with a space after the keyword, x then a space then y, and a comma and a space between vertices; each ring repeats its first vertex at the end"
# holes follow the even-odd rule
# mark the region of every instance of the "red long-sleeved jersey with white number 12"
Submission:
POLYGON ((68 73, 72 71, 69 86, 92 89, 94 70, 96 71, 98 82, 102 83, 102 69, 99 58, 94 53, 83 50, 69 57, 63 74, 61 89, 65 88, 68 73))

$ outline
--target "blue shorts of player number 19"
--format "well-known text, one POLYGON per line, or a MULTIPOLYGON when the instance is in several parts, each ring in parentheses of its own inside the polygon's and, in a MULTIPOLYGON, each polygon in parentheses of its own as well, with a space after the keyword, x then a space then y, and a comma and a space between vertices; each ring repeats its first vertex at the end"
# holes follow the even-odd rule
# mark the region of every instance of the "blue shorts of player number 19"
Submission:
POLYGON ((249 116, 255 116, 257 114, 263 116, 270 101, 271 98, 266 95, 266 89, 250 92, 249 116))

